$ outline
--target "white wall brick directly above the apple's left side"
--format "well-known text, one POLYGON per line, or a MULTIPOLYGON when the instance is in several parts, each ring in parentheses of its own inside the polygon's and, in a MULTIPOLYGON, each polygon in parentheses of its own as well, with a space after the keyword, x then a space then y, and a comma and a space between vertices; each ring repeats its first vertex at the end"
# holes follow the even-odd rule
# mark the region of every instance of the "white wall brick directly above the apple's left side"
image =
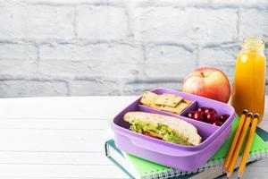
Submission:
POLYGON ((197 67, 195 47, 149 46, 146 51, 144 72, 147 78, 182 81, 188 72, 197 67))

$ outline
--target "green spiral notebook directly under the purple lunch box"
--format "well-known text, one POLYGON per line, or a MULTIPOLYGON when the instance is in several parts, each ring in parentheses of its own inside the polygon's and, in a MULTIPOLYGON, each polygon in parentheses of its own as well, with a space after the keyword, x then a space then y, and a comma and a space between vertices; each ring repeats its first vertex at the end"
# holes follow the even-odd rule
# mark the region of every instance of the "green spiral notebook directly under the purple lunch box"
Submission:
MULTIPOLYGON (((233 135, 236 131, 238 124, 239 124, 239 117, 236 117, 236 119, 233 121, 231 132, 230 132, 230 137, 228 138, 228 140, 222 145, 222 148, 219 149, 214 154, 214 156, 205 163, 205 166, 199 167, 197 171, 195 172, 201 172, 208 168, 222 167, 222 163, 229 150, 230 142, 233 138, 233 135)), ((244 145, 245 143, 246 142, 244 142, 244 145)), ((241 149, 241 153, 243 153, 243 151, 244 151, 244 146, 241 149)), ((129 161, 129 163, 132 164, 132 166, 134 167, 134 170, 139 176, 157 175, 158 176, 157 178, 161 178, 159 177, 159 175, 163 175, 164 177, 166 175, 178 176, 178 175, 190 174, 189 172, 181 171, 181 170, 170 168, 167 166, 161 166, 159 164, 155 164, 153 162, 132 156, 130 154, 123 153, 123 155, 129 161)), ((267 155, 268 155, 268 144, 259 135, 255 133, 254 140, 250 149, 248 161, 254 161, 260 158, 264 158, 267 155)))

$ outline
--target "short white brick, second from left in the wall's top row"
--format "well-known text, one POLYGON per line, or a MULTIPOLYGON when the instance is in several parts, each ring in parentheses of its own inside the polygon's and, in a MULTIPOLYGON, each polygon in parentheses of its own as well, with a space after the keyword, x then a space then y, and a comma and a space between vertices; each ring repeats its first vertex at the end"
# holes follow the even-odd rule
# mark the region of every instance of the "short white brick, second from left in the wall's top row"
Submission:
POLYGON ((128 23, 121 7, 80 6, 77 16, 79 38, 126 38, 128 23))

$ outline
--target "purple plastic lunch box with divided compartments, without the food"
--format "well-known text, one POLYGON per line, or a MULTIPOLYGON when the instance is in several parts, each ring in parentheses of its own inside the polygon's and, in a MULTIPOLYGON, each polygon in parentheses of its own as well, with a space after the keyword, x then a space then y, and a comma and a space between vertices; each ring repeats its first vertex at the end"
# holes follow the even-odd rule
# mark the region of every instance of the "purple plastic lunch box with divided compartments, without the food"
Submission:
POLYGON ((140 98, 135 100, 113 118, 112 128, 114 132, 114 141, 116 146, 134 156, 145 158, 163 166, 170 166, 184 171, 195 171, 198 167, 204 166, 205 162, 211 158, 214 153, 221 148, 224 141, 230 135, 231 123, 235 119, 236 113, 233 107, 228 104, 196 95, 169 89, 151 90, 156 94, 169 93, 178 95, 192 103, 180 115, 164 112, 151 107, 145 107, 139 103, 140 98), (229 118, 222 126, 206 124, 186 115, 191 110, 197 110, 197 107, 213 107, 218 115, 228 114, 229 118), (130 111, 144 111, 160 115, 170 115, 180 120, 187 121, 197 127, 202 142, 197 146, 183 146, 167 141, 157 140, 147 137, 138 132, 129 130, 130 124, 123 120, 123 115, 130 111))

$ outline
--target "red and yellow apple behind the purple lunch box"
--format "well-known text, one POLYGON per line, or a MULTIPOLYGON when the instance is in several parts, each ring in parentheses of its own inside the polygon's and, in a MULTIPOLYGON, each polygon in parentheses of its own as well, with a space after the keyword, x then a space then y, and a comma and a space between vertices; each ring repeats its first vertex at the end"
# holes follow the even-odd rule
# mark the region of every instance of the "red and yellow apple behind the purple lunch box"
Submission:
POLYGON ((213 67, 201 67, 190 72, 183 82, 182 90, 224 103, 230 98, 230 82, 227 76, 213 67))

